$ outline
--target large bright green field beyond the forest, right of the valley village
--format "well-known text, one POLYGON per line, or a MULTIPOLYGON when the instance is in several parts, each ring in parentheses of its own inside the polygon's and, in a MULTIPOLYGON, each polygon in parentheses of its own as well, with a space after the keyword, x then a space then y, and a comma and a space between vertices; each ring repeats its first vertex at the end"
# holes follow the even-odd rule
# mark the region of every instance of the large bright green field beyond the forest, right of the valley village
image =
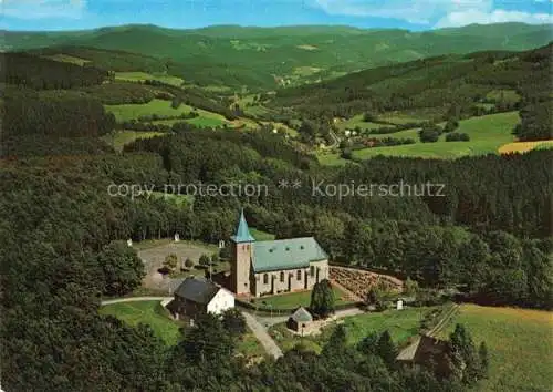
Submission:
MULTIPOLYGON (((467 133, 470 142, 446 142, 442 134, 436 143, 407 144, 393 147, 375 147, 355 151, 353 156, 367 159, 377 155, 424 158, 456 158, 466 155, 497 154, 498 148, 514 142, 512 131, 520 121, 518 112, 490 114, 463 120, 456 132, 467 133)), ((404 131, 414 134, 413 130, 404 131)), ((397 134, 390 134, 390 136, 397 134)), ((396 137, 396 136, 394 136, 396 137)), ((418 137, 417 137, 418 140, 418 137)))

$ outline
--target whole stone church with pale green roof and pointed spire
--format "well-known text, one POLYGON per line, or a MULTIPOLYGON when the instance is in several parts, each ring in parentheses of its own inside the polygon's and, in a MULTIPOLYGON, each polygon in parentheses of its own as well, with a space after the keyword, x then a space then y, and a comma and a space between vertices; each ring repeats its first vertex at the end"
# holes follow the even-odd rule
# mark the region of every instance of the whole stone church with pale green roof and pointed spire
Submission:
POLYGON ((231 237, 231 290, 237 296, 310 290, 328 279, 328 256, 313 237, 255 241, 243 209, 231 237))

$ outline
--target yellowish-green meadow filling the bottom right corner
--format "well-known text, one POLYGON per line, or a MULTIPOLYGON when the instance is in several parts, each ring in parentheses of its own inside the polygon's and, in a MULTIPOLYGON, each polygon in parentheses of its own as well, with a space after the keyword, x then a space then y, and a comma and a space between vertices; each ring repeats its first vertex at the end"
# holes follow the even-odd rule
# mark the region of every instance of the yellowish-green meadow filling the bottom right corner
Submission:
POLYGON ((489 379, 480 391, 551 391, 553 385, 553 313, 539 310, 463 305, 441 334, 463 323, 476 344, 486 341, 489 379))

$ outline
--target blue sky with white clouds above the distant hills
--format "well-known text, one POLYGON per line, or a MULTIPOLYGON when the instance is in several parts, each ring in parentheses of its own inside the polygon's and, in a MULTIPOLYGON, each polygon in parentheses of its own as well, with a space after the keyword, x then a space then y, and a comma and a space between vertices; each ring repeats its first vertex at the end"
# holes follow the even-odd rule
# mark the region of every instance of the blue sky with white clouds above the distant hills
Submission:
POLYGON ((83 30, 148 23, 347 24, 431 30, 470 23, 553 23, 553 0, 0 0, 0 29, 83 30))

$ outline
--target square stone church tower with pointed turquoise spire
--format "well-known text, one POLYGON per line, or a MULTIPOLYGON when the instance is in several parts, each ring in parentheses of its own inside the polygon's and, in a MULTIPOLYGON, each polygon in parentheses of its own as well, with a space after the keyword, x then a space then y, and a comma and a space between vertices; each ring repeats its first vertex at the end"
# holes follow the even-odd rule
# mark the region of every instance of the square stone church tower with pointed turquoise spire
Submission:
POLYGON ((232 262, 230 266, 230 277, 232 291, 237 295, 250 293, 251 260, 253 258, 253 244, 255 239, 251 236, 248 228, 243 216, 243 208, 240 212, 237 231, 231 237, 231 240, 232 262))

